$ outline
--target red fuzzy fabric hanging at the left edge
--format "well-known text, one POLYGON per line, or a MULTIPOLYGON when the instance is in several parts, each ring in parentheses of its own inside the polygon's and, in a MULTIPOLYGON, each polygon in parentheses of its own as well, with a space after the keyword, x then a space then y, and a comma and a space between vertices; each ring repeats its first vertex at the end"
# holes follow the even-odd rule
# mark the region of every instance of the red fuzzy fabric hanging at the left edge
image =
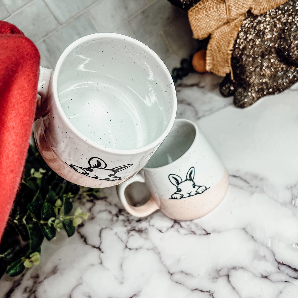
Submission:
POLYGON ((0 239, 20 184, 36 108, 40 55, 0 21, 0 239))

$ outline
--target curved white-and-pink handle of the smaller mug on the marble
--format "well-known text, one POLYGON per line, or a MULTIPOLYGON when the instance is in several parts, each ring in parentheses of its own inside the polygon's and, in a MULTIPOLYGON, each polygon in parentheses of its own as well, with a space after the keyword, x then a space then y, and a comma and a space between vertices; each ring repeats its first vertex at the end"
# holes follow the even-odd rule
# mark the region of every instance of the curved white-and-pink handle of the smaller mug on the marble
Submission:
POLYGON ((145 217, 153 213, 155 210, 159 209, 155 201, 152 200, 152 197, 150 197, 149 201, 147 201, 142 206, 129 205, 129 203, 126 200, 125 189, 127 186, 129 186, 131 183, 134 183, 134 182, 145 183, 145 179, 140 173, 137 173, 135 176, 117 185, 118 196, 126 211, 128 211, 130 214, 136 217, 145 217))

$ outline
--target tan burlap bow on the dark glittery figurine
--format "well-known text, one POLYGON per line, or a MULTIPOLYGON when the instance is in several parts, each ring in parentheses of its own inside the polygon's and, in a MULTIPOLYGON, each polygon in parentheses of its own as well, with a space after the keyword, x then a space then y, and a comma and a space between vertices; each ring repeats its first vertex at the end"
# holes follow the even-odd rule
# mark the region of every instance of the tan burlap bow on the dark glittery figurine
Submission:
POLYGON ((260 15, 288 0, 202 0, 189 9, 194 38, 211 34, 206 50, 206 70, 220 76, 231 72, 231 55, 239 28, 250 10, 260 15))

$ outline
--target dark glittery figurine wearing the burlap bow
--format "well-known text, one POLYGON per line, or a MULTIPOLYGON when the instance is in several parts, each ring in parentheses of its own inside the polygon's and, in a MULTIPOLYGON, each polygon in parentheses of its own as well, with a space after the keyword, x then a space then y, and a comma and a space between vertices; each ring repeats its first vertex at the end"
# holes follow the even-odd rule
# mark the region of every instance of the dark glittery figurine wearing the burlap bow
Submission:
POLYGON ((234 81, 220 84, 224 96, 245 108, 265 95, 277 94, 298 80, 298 0, 262 15, 246 13, 231 57, 234 81))

